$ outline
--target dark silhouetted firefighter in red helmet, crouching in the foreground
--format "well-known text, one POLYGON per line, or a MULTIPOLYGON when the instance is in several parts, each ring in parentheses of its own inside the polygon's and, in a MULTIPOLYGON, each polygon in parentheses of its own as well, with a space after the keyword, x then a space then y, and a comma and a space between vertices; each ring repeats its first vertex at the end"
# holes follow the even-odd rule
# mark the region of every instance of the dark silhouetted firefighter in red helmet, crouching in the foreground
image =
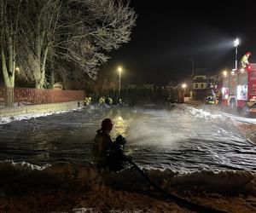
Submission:
POLYGON ((97 130, 93 141, 92 155, 98 167, 108 166, 108 155, 111 151, 113 140, 110 132, 113 130, 113 121, 110 118, 102 120, 102 128, 97 130))

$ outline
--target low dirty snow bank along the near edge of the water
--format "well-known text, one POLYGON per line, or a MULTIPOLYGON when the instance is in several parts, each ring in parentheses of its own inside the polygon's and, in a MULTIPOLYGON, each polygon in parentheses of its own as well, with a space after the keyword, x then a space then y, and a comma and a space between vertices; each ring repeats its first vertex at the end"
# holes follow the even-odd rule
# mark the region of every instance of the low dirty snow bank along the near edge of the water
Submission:
MULTIPOLYGON (((53 164, 39 167, 26 162, 14 163, 9 161, 0 163, 1 174, 9 174, 10 171, 19 171, 21 174, 26 174, 26 179, 32 179, 31 182, 40 181, 38 177, 41 174, 44 177, 41 181, 47 181, 45 178, 49 178, 50 181, 55 177, 55 181, 58 184, 74 181, 78 185, 85 183, 98 185, 104 180, 107 185, 119 187, 124 190, 143 191, 148 187, 146 184, 147 181, 133 167, 120 172, 108 172, 107 170, 98 170, 91 164, 53 164), (33 176, 32 170, 38 170, 38 176, 33 176)), ((229 190, 240 191, 242 189, 242 192, 256 194, 256 174, 253 171, 224 170, 214 172, 202 170, 179 173, 170 169, 143 169, 143 172, 152 181, 166 190, 172 190, 172 187, 177 186, 188 189, 191 186, 196 186, 197 188, 204 188, 204 190, 217 193, 229 192, 229 190)), ((9 176, 6 181, 9 181, 9 176)), ((75 212, 86 212, 83 210, 88 209, 75 210, 75 212)))

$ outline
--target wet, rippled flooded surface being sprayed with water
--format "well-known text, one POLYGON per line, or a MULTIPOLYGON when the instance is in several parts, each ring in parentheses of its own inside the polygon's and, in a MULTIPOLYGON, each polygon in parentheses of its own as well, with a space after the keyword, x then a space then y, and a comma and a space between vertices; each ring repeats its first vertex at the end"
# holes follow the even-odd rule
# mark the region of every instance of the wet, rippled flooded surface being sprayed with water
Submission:
POLYGON ((86 164, 102 119, 113 118, 113 137, 125 135, 126 152, 145 168, 256 170, 256 147, 238 134, 230 118, 192 111, 183 106, 90 107, 1 124, 0 160, 86 164))

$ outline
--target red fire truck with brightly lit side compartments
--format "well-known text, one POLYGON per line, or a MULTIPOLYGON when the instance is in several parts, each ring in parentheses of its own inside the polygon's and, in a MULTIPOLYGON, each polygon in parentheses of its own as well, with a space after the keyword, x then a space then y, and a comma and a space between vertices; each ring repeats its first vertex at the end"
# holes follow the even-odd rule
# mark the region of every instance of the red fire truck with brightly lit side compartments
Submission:
POLYGON ((222 106, 256 113, 256 64, 226 74, 221 91, 222 106))

